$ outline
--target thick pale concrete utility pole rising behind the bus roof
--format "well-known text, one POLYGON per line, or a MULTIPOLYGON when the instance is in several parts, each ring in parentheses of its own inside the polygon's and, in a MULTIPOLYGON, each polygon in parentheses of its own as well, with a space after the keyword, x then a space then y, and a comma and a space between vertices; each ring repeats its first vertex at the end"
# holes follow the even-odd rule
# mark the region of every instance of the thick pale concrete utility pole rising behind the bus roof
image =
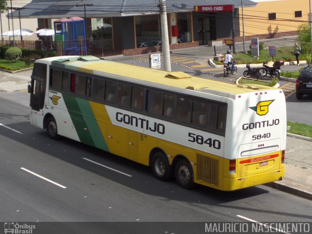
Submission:
POLYGON ((164 59, 164 70, 171 72, 166 2, 165 0, 159 0, 159 2, 160 2, 160 25, 161 25, 161 41, 164 59))

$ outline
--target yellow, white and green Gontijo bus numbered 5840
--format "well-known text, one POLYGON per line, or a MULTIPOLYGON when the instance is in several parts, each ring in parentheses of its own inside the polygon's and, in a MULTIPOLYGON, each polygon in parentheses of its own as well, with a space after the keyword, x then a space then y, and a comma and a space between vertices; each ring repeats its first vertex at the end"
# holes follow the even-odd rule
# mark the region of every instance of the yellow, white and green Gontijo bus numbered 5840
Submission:
POLYGON ((176 178, 222 191, 284 176, 283 91, 148 67, 63 56, 36 60, 30 121, 176 178))

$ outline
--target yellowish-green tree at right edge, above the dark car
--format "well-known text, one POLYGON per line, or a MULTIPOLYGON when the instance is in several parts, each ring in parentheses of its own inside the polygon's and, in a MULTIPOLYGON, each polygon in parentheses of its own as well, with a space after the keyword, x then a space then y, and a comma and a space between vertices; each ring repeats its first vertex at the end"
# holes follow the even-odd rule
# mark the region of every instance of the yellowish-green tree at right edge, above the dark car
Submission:
POLYGON ((298 27, 297 41, 301 47, 301 54, 307 60, 311 61, 311 28, 310 23, 303 23, 298 27))

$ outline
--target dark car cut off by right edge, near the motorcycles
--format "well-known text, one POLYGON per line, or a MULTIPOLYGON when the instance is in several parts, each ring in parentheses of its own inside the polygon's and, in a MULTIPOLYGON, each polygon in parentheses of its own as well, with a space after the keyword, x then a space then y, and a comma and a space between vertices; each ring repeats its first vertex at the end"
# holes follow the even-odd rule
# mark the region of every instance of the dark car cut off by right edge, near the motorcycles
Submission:
POLYGON ((312 65, 305 66, 296 80, 296 98, 304 94, 312 94, 312 65))

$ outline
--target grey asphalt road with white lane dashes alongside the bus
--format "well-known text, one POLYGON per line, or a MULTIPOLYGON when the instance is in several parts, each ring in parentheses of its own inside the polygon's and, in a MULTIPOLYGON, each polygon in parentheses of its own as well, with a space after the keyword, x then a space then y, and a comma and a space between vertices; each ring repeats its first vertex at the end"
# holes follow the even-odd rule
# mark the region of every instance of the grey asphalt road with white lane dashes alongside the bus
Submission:
MULTIPOLYGON (((68 138, 52 140, 30 125, 27 93, 0 93, 0 110, 0 221, 103 221, 111 223, 95 224, 93 233, 176 234, 204 233, 212 221, 312 221, 310 200, 265 186, 185 190, 156 180, 146 166, 68 138)), ((61 230, 90 233, 87 227, 61 230)))

